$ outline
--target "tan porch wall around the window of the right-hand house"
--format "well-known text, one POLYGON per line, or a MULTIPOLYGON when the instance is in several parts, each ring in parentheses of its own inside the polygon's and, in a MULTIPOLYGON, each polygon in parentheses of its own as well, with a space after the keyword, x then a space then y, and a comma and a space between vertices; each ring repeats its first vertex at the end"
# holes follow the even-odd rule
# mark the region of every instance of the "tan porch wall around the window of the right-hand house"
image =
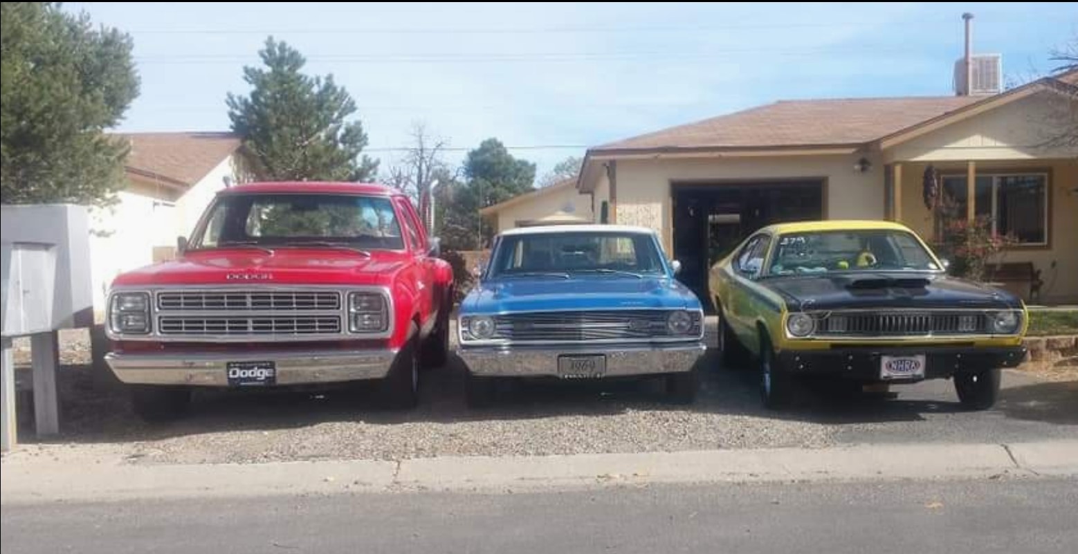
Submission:
MULTIPOLYGON (((965 163, 936 163, 940 172, 966 170, 965 163)), ((926 240, 932 239, 931 213, 922 199, 923 176, 928 164, 902 165, 902 223, 926 240)), ((1048 207, 1049 247, 1014 248, 1007 251, 1004 262, 1033 262, 1041 271, 1041 299, 1045 302, 1078 302, 1078 160, 978 162, 978 174, 1013 170, 1049 169, 1051 181, 1048 207), (1055 267, 1052 267, 1052 262, 1055 267)))

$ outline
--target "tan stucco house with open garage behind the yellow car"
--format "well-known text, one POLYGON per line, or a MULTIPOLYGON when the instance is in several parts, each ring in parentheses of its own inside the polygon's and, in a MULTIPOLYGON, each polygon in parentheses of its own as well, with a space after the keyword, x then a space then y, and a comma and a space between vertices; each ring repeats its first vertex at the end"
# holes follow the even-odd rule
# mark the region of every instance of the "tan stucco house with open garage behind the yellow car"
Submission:
MULTIPOLYGON (((1078 71, 981 96, 778 101, 589 149, 577 191, 596 222, 657 230, 705 293, 710 263, 773 222, 890 219, 935 239, 931 166, 968 218, 1019 237, 1001 261, 1040 272, 1038 301, 1076 302, 1078 146, 1053 140, 1076 126, 1078 71)), ((521 198, 509 222, 544 214, 521 198)))

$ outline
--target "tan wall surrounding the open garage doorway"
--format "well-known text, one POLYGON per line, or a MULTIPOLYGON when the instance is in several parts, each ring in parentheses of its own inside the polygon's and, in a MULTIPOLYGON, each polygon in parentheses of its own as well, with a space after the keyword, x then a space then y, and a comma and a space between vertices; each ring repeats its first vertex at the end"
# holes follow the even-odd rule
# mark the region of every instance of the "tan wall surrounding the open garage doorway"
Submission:
MULTIPOLYGON (((654 228, 666 251, 673 252, 672 183, 814 178, 825 181, 824 209, 828 219, 882 219, 882 161, 877 155, 868 155, 872 167, 859 172, 854 164, 860 157, 860 154, 851 154, 619 160, 617 222, 654 228)), ((599 192, 597 189, 596 193, 599 192)), ((596 194, 596 210, 599 202, 600 196, 596 194)))

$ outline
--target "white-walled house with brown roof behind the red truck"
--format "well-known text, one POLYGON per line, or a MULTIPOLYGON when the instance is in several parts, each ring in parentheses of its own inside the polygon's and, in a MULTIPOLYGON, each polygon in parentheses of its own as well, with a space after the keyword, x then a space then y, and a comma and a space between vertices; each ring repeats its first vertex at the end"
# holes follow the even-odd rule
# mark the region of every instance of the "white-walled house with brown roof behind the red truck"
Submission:
POLYGON ((91 213, 94 308, 120 273, 170 258, 220 189, 246 180, 240 140, 227 133, 134 133, 116 203, 91 213))

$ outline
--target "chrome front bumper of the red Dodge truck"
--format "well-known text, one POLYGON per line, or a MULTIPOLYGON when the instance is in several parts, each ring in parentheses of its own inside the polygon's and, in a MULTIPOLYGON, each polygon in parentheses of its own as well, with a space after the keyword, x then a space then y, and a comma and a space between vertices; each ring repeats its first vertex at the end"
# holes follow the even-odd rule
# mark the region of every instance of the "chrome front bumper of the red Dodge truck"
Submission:
POLYGON ((276 366, 276 385, 309 385, 379 379, 389 373, 396 350, 321 350, 296 352, 107 354, 105 361, 130 385, 227 387, 229 362, 266 362, 276 366))

